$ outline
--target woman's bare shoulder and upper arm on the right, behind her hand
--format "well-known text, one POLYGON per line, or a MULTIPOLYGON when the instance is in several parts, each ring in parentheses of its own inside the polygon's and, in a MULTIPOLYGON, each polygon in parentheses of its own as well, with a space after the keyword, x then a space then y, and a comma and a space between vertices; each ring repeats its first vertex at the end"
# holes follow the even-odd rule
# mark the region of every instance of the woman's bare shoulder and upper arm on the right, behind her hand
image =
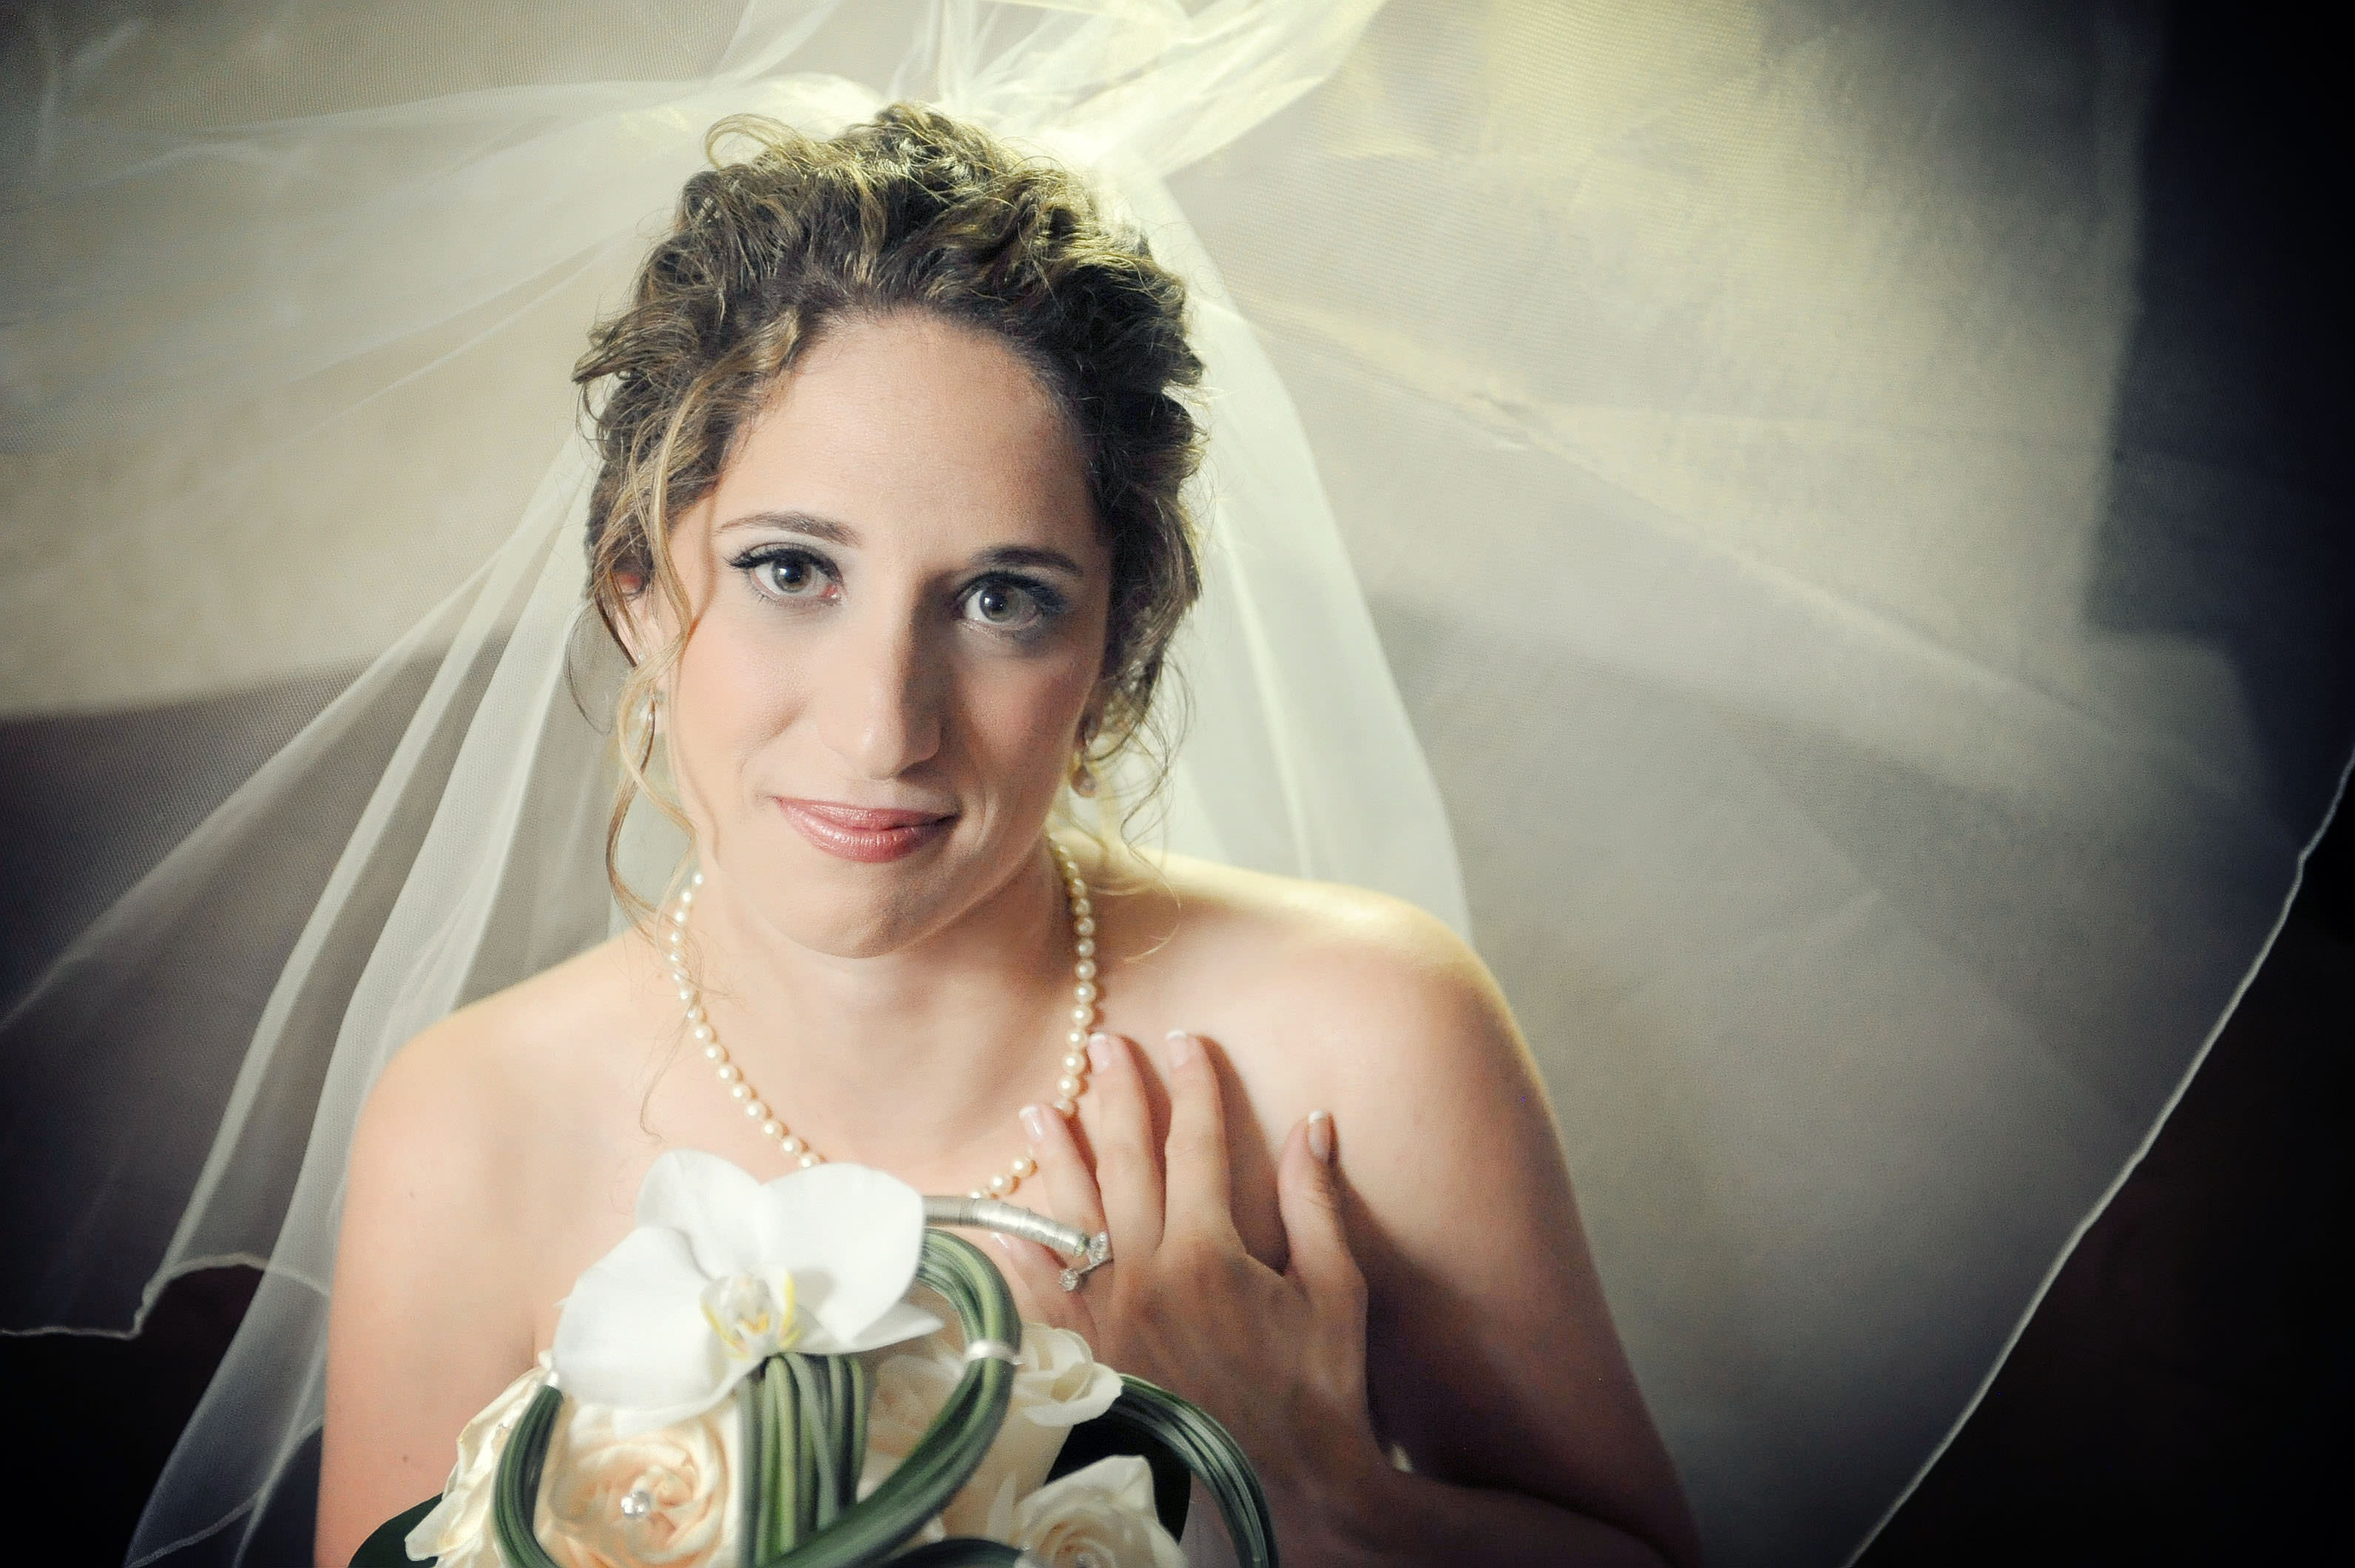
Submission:
MULTIPOLYGON (((1218 1041, 1262 1135, 1333 1114, 1385 1434, 1418 1471, 1547 1497, 1691 1559, 1545 1085, 1486 965, 1441 921, 1356 888, 1173 859, 1133 897, 1137 928, 1161 932, 1137 968, 1166 965, 1156 996, 1218 1041)), ((1236 1194, 1251 1182, 1246 1158, 1236 1194)))

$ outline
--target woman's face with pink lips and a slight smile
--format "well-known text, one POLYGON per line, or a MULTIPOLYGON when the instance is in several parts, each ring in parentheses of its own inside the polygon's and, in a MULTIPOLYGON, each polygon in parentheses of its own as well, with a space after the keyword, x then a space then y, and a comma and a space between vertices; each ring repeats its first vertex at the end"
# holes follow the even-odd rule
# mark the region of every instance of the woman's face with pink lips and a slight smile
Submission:
POLYGON ((732 899, 838 956, 944 930, 1031 857, 1104 662, 1112 553, 1062 410, 987 332, 843 323, 671 558, 671 758, 732 899))

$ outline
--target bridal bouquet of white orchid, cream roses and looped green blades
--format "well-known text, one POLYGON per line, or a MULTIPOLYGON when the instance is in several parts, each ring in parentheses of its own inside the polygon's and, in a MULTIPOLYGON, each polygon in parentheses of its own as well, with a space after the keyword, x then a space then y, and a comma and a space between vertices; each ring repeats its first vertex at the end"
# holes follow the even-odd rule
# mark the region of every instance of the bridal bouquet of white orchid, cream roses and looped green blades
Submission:
POLYGON ((405 1549, 440 1568, 1180 1568, 1145 1457, 1057 1474, 1081 1424, 1173 1455, 1239 1559, 1274 1563, 1225 1429, 1069 1330, 1017 1328, 1003 1276, 928 1229, 916 1189, 860 1165, 758 1184, 674 1151, 553 1349, 459 1434, 405 1549))

